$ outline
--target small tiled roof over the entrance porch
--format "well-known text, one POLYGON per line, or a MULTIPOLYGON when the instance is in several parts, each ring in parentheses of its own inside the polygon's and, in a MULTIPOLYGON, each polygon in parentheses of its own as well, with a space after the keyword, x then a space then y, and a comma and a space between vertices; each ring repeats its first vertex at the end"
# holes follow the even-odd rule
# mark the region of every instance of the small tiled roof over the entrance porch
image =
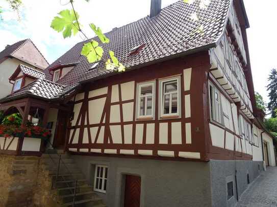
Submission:
POLYGON ((23 94, 31 94, 45 99, 53 99, 65 92, 66 86, 39 78, 21 90, 7 96, 4 99, 11 99, 23 94))

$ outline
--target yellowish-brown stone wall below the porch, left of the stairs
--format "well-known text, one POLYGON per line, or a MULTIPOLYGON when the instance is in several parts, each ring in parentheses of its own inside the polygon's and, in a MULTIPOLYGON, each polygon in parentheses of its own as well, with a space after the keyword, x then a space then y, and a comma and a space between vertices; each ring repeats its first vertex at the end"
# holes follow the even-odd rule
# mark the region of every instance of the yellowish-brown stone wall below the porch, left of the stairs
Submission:
POLYGON ((57 205, 39 157, 0 155, 0 166, 0 207, 57 205))

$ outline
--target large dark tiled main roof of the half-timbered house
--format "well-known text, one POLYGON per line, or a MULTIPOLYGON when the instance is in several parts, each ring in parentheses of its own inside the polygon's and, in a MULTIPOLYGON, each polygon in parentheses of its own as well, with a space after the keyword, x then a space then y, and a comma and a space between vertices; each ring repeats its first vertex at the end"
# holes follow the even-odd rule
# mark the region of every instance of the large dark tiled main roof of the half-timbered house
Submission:
MULTIPOLYGON (((162 9, 154 18, 147 16, 108 32, 106 36, 110 39, 110 43, 100 44, 105 54, 103 62, 94 70, 89 71, 92 64, 89 64, 80 54, 83 44, 87 41, 73 46, 50 68, 58 64, 80 62, 58 81, 61 84, 70 85, 112 72, 105 70, 105 60, 108 58, 109 50, 113 50, 119 61, 130 68, 216 43, 224 29, 230 0, 212 0, 206 10, 200 9, 198 3, 199 0, 189 5, 181 0, 162 9), (198 22, 191 19, 194 12, 198 14, 198 22), (204 26, 205 35, 195 32, 199 25, 204 26), (129 55, 131 48, 141 44, 145 47, 138 54, 129 55)), ((47 79, 52 78, 47 69, 44 73, 47 79)))

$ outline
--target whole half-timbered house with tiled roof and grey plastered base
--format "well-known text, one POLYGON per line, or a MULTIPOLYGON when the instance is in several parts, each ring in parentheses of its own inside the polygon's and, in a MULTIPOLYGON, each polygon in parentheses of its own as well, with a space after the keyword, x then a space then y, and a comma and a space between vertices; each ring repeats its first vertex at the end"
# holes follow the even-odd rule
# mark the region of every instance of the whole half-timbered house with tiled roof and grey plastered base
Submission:
MULTIPOLYGON (((275 166, 272 136, 256 108, 243 1, 197 3, 153 0, 150 16, 107 33, 102 46, 126 72, 105 70, 107 54, 89 64, 80 42, 1 109, 26 122, 39 108, 54 147, 108 206, 234 205, 275 166)), ((16 139, 2 153, 41 155, 37 144, 16 139)))

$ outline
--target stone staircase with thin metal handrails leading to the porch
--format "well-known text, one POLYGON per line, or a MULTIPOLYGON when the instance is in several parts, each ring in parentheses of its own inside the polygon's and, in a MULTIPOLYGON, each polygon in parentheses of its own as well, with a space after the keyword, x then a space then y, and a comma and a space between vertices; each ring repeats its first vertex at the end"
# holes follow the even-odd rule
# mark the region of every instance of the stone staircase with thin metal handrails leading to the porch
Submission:
POLYGON ((87 184, 85 176, 68 154, 61 154, 57 178, 58 163, 59 155, 53 150, 47 151, 47 153, 43 154, 41 157, 41 164, 44 166, 45 170, 48 170, 48 176, 50 176, 53 181, 52 191, 57 195, 60 206, 72 206, 74 186, 77 180, 74 206, 106 207, 103 200, 93 191, 93 186, 87 184))

